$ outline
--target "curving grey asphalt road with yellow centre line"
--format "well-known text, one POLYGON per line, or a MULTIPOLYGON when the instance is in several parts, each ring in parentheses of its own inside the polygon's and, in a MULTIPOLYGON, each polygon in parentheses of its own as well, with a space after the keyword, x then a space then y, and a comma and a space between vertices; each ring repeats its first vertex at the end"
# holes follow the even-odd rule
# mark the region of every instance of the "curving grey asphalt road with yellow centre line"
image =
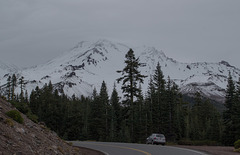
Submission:
POLYGON ((82 141, 72 143, 74 146, 95 149, 106 155, 206 155, 194 150, 161 145, 82 141))

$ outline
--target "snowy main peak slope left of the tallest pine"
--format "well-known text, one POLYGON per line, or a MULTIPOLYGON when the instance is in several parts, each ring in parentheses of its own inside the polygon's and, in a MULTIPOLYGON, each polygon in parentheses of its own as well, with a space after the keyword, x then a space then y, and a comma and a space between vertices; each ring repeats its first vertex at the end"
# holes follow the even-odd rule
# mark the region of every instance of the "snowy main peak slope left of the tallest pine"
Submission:
POLYGON ((118 78, 116 70, 123 68, 125 51, 128 49, 127 46, 106 40, 80 42, 71 51, 46 64, 24 70, 21 75, 29 81, 28 91, 37 85, 42 87, 51 80, 69 96, 89 96, 94 87, 100 88, 103 80, 113 85, 118 78))

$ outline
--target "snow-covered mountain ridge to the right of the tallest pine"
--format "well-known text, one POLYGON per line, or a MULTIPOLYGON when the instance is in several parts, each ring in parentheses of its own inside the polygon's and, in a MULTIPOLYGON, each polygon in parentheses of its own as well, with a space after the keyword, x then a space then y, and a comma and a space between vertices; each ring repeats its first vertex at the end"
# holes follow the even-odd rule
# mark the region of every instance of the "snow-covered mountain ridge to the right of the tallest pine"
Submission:
POLYGON ((146 50, 148 52, 143 52, 140 55, 141 62, 147 64, 143 71, 150 77, 159 62, 165 78, 169 76, 174 80, 183 94, 192 96, 196 91, 199 91, 205 97, 223 102, 229 72, 235 81, 240 77, 240 70, 225 61, 219 63, 180 63, 166 57, 162 51, 155 48, 146 50))

